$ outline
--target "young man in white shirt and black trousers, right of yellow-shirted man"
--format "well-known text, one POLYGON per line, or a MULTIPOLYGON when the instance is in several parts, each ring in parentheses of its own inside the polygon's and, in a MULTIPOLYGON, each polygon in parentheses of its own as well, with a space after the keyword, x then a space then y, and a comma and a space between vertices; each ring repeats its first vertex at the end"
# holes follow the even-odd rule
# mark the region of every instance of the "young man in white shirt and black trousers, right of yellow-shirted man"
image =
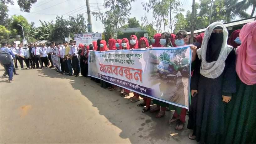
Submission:
POLYGON ((68 56, 70 57, 71 62, 72 62, 72 68, 74 69, 74 75, 75 75, 75 77, 78 77, 79 76, 78 59, 77 59, 78 47, 74 44, 74 40, 70 40, 69 42, 71 44, 71 48, 68 53, 68 56))

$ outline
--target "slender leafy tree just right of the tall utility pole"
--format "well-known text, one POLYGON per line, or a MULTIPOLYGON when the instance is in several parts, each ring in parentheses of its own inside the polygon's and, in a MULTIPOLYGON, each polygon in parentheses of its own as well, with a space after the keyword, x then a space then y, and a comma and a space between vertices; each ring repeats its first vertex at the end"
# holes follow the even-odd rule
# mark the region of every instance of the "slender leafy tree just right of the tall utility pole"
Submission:
POLYGON ((104 0, 104 7, 110 8, 105 13, 92 12, 96 20, 100 19, 105 26, 105 33, 107 35, 113 34, 117 38, 118 29, 125 25, 125 21, 129 17, 131 10, 131 2, 134 0, 104 0))

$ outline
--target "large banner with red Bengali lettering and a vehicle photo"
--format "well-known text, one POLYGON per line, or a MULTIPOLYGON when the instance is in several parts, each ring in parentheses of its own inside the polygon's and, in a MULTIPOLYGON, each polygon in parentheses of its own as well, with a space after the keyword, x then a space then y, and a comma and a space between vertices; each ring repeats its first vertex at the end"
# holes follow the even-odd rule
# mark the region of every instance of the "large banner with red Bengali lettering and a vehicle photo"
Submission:
POLYGON ((188 109, 191 55, 190 45, 90 51, 88 75, 188 109))

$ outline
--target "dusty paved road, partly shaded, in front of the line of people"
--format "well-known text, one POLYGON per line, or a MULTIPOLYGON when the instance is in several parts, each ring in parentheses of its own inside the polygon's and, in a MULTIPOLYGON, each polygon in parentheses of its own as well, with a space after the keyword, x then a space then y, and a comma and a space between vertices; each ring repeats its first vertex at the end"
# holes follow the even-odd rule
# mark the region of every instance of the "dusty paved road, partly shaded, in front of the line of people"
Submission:
POLYGON ((49 68, 17 72, 13 83, 0 79, 0 143, 196 143, 189 130, 167 123, 172 112, 161 119, 141 113, 89 78, 49 68))

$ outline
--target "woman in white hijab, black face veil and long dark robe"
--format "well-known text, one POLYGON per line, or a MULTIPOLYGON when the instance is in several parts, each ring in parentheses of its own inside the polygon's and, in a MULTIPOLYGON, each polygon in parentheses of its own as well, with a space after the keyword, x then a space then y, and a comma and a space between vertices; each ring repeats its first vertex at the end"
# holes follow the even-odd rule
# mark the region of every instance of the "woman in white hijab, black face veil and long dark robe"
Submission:
POLYGON ((227 38, 224 24, 214 22, 206 28, 197 50, 190 87, 191 95, 197 97, 193 130, 200 143, 219 143, 224 134, 224 105, 236 91, 236 55, 227 38))

